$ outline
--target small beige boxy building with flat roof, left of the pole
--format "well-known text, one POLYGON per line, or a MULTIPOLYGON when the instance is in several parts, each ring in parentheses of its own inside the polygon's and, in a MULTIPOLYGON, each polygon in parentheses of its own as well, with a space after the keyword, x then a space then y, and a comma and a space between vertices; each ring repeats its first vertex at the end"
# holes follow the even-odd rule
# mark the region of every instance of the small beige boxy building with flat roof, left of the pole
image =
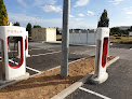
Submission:
POLYGON ((35 41, 56 41, 56 28, 32 28, 31 39, 35 41))

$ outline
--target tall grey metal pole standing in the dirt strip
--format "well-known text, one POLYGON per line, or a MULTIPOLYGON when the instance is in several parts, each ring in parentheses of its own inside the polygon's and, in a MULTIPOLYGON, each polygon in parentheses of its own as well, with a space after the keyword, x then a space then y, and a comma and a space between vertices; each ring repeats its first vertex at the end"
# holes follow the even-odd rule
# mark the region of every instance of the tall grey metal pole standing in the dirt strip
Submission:
POLYGON ((70 8, 70 0, 64 0, 61 76, 67 76, 68 75, 69 8, 70 8))

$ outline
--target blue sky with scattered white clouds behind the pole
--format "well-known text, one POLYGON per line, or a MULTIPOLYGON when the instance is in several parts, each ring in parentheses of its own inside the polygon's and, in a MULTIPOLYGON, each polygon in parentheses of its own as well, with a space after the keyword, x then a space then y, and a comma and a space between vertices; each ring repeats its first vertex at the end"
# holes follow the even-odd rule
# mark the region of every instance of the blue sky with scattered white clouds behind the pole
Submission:
MULTIPOLYGON (((9 20, 62 27, 63 0, 3 0, 9 20)), ((109 27, 132 26, 132 0, 70 0, 70 28, 95 29, 104 9, 109 27)))

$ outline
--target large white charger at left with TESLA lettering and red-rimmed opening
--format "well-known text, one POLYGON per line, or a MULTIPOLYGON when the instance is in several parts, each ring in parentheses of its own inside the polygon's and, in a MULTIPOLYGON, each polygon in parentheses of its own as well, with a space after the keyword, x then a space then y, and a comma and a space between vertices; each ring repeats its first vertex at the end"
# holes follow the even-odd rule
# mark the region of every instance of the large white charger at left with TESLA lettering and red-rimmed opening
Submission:
POLYGON ((26 29, 15 26, 0 26, 2 80, 10 81, 26 75, 25 40, 26 29), (21 57, 16 58, 21 43, 21 57), (9 52, 10 51, 10 52, 9 52))

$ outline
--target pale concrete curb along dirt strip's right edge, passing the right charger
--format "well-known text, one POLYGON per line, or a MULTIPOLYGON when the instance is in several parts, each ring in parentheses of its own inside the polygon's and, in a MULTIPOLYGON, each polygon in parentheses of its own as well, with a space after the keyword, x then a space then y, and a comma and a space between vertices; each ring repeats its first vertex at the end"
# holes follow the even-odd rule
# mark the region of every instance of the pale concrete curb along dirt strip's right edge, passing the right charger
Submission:
MULTIPOLYGON (((109 67, 111 63, 114 63, 118 59, 119 59, 119 57, 115 57, 113 60, 107 62, 106 67, 109 67)), ((61 91, 60 94, 53 96, 51 99, 64 99, 65 97, 70 95, 72 91, 75 91, 78 87, 82 86, 87 82, 88 77, 90 77, 90 75, 93 73, 94 72, 91 72, 90 74, 88 74, 83 79, 79 80, 78 82, 74 83, 72 85, 70 85, 63 91, 61 91)))

